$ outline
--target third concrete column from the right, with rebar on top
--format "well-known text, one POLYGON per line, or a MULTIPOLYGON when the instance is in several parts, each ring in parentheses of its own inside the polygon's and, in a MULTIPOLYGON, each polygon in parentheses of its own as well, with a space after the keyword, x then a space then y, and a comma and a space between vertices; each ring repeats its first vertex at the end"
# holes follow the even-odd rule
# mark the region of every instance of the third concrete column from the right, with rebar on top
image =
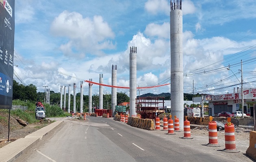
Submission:
MULTIPOLYGON (((112 85, 117 85, 117 65, 112 65, 112 85)), ((111 87, 111 109, 112 116, 117 105, 117 88, 111 87)))

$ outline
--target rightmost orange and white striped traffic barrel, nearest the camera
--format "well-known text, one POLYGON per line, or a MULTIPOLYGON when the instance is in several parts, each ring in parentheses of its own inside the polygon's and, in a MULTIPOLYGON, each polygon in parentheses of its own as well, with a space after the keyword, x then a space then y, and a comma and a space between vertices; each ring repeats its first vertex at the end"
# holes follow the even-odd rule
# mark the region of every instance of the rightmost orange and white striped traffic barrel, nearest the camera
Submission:
POLYGON ((236 150, 236 140, 234 136, 234 124, 225 124, 225 150, 236 150))

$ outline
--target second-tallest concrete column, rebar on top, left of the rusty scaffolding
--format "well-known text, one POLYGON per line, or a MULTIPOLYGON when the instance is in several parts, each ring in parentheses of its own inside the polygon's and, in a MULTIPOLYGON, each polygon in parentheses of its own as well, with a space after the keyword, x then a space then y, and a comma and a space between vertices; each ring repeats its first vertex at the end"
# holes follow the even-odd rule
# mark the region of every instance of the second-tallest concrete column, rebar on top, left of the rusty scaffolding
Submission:
POLYGON ((137 47, 130 47, 130 116, 136 113, 137 47))

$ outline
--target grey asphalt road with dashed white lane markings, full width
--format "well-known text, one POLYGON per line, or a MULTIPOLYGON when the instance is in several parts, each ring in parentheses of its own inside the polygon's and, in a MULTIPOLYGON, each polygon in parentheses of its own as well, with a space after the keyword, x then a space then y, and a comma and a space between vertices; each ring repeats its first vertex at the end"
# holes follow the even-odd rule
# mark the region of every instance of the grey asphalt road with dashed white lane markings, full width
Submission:
POLYGON ((181 139, 178 136, 182 137, 182 132, 165 133, 135 128, 113 118, 65 119, 60 128, 16 162, 252 161, 243 155, 204 146, 200 140, 181 139))

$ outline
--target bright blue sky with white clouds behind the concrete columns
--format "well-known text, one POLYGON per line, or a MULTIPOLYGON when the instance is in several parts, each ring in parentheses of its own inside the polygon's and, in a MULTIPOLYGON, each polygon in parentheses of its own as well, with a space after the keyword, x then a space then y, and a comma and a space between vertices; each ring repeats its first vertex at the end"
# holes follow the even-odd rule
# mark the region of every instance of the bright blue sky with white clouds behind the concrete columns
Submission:
MULTIPOLYGON (((173 0, 172 0, 173 1, 173 0)), ((254 0, 182 0, 184 93, 225 94, 256 87, 254 0), (241 68, 241 60, 242 67, 241 68), (230 70, 227 70, 229 68, 230 70)), ((169 0, 15 0, 13 78, 37 92, 85 80, 129 87, 130 47, 137 47, 137 87, 170 83, 169 0)), ((171 92, 170 85, 139 94, 171 92)), ((67 92, 67 90, 66 90, 67 92)), ((129 96, 129 89, 117 89, 129 96)), ((104 94, 111 94, 104 87, 104 94)), ((99 85, 92 86, 99 94, 99 85)))

